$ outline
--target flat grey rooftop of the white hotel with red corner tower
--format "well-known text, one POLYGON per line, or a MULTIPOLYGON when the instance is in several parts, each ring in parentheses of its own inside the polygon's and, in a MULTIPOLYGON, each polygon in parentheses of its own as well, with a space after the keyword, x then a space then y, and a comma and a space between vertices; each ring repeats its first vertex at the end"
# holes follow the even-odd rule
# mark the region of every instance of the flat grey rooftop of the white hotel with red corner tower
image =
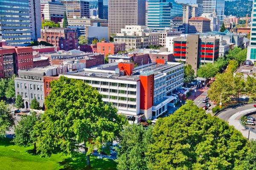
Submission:
POLYGON ((147 65, 140 65, 134 68, 132 75, 120 75, 116 74, 116 69, 118 68, 118 63, 113 62, 104 65, 98 65, 93 68, 84 68, 79 71, 72 71, 64 75, 79 76, 79 77, 96 77, 104 79, 118 79, 126 81, 138 81, 140 75, 150 75, 154 74, 163 74, 163 71, 166 71, 177 65, 183 65, 179 62, 167 62, 166 64, 157 64, 156 62, 149 63, 147 65))

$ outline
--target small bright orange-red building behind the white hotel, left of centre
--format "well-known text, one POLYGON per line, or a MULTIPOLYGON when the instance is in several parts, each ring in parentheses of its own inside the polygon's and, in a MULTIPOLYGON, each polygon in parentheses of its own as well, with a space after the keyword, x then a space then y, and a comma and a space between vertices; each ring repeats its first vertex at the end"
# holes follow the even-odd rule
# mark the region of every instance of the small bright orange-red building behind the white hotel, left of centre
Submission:
POLYGON ((106 57, 108 54, 117 54, 119 51, 125 51, 125 43, 113 43, 113 42, 98 42, 97 52, 99 54, 104 54, 106 57))

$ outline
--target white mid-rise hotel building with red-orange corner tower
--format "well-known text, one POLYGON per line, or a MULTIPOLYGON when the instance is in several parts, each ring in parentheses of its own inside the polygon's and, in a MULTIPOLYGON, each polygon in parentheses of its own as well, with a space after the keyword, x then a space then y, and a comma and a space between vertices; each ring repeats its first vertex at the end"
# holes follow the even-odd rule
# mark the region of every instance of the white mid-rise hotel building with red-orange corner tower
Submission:
POLYGON ((93 86, 105 103, 138 122, 157 118, 174 105, 177 98, 171 94, 183 85, 184 64, 163 59, 136 68, 134 63, 110 63, 62 75, 93 86))

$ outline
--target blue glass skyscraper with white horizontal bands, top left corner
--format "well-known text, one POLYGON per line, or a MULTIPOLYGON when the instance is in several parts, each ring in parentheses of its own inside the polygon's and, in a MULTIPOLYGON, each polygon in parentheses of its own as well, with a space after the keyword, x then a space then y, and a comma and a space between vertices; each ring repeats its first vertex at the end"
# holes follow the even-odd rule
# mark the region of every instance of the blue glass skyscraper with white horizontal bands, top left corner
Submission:
POLYGON ((0 40, 8 45, 31 42, 29 14, 29 0, 0 0, 0 40))

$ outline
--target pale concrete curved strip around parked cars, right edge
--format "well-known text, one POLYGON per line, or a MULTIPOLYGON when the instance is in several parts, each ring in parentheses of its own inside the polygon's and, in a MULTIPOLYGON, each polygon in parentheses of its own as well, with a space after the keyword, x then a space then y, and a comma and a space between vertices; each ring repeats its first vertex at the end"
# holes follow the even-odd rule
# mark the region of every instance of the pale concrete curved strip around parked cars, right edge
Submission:
MULTIPOLYGON (((235 114, 233 114, 229 119, 228 119, 228 124, 231 126, 234 126, 237 130, 239 130, 242 135, 248 139, 248 135, 249 135, 249 130, 245 129, 243 125, 241 125, 240 123, 240 119, 242 116, 244 116, 247 113, 250 112, 254 112, 256 111, 256 108, 252 108, 252 109, 247 109, 244 111, 239 111, 235 114)), ((249 139, 256 139, 256 133, 250 131, 250 136, 249 139)))

